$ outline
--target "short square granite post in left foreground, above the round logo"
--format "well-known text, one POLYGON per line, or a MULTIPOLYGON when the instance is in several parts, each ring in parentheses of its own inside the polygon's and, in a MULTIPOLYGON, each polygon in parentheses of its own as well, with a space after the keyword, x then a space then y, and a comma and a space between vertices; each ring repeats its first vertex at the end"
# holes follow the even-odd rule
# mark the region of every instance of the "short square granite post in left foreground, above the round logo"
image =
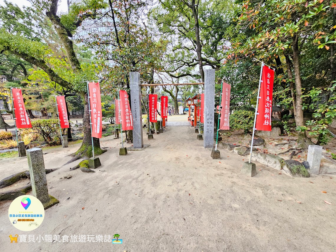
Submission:
POLYGON ((27 150, 26 153, 28 158, 33 196, 38 198, 42 204, 46 203, 50 199, 48 194, 47 177, 45 175, 42 149, 33 148, 27 150))

